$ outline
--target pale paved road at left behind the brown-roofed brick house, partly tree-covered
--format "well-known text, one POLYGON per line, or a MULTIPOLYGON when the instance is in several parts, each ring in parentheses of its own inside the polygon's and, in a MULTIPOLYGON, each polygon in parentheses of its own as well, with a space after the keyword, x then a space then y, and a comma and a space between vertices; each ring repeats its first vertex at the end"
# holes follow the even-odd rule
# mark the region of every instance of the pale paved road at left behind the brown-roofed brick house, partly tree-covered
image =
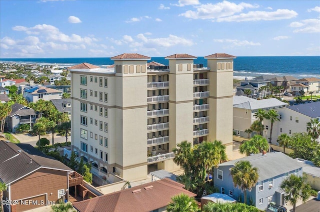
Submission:
MULTIPOLYGON (((20 141, 20 143, 23 144, 30 144, 32 146, 36 146, 36 142, 38 141, 38 136, 30 136, 29 133, 21 133, 21 134, 12 134, 17 140, 20 141)), ((40 138, 47 138, 50 141, 50 144, 52 143, 52 134, 46 134, 45 136, 40 136, 40 138)), ((60 136, 59 134, 54 134, 53 137, 54 143, 62 143, 65 142, 65 137, 60 136)), ((68 141, 71 141, 70 136, 68 136, 68 141)))

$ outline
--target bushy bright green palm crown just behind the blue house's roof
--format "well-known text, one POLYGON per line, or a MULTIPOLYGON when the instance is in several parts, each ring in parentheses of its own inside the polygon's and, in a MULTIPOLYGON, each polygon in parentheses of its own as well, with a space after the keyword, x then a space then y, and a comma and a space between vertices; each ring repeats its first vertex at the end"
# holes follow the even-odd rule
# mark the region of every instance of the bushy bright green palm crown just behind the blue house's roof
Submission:
POLYGON ((267 151, 269 149, 268 142, 265 138, 259 135, 254 135, 249 141, 244 141, 239 148, 239 152, 246 156, 250 154, 257 154, 262 150, 267 151))

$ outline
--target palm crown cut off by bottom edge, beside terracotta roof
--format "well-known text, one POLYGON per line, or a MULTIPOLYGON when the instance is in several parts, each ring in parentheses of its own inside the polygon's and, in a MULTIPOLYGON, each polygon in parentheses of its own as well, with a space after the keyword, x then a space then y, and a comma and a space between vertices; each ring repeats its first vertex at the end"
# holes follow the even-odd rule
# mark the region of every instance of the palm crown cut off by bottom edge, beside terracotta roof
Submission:
POLYGON ((167 212, 197 212, 197 206, 194 198, 189 197, 183 193, 173 196, 171 202, 166 206, 167 212))

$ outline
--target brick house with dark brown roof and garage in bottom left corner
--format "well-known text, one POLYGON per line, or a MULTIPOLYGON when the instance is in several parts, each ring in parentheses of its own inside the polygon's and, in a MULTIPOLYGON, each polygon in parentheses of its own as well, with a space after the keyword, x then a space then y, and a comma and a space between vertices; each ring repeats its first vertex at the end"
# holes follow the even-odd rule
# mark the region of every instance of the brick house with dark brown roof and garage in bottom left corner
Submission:
POLYGON ((0 141, 0 181, 7 186, 3 200, 14 203, 4 205, 4 212, 23 212, 61 198, 68 200, 71 173, 73 170, 29 144, 0 141))

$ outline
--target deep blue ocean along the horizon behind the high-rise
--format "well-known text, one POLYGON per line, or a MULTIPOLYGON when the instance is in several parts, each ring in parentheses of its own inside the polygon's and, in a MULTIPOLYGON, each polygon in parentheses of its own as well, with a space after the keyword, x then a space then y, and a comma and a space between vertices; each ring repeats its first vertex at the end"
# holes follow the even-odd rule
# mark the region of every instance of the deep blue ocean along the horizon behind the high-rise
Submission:
MULTIPOLYGON (((0 62, 59 64, 72 66, 82 62, 93 65, 105 66, 113 64, 109 57, 79 57, 79 58, 0 58, 0 62)), ((150 61, 156 61, 168 65, 164 57, 152 57, 150 61)), ((207 62, 203 57, 197 57, 194 64, 207 62)), ((234 59, 233 76, 256 77, 260 75, 284 76, 291 75, 296 78, 320 77, 320 56, 252 56, 236 57, 234 59)))

